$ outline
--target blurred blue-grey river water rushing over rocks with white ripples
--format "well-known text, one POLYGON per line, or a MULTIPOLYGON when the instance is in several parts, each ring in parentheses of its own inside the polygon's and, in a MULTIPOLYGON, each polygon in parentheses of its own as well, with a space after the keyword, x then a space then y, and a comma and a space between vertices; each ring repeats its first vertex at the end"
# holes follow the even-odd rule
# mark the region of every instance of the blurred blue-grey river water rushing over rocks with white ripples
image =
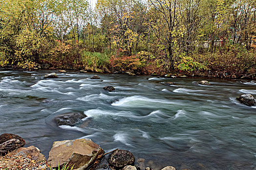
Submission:
POLYGON ((0 70, 0 134, 13 133, 48 156, 53 141, 90 138, 106 151, 132 152, 159 170, 255 170, 256 107, 235 100, 256 96, 256 81, 164 79, 152 76, 0 70), (161 83, 172 81, 176 85, 161 83), (113 92, 104 91, 113 85, 113 92), (54 117, 84 112, 87 126, 56 126, 54 117))

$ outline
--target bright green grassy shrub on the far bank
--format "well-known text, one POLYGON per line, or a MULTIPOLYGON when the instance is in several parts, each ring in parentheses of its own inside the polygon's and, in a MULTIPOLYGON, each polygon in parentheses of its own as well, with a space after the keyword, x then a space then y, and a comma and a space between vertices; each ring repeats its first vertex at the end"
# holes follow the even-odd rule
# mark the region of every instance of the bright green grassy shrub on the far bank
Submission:
POLYGON ((86 70, 108 72, 109 56, 105 53, 83 51, 81 60, 86 70))

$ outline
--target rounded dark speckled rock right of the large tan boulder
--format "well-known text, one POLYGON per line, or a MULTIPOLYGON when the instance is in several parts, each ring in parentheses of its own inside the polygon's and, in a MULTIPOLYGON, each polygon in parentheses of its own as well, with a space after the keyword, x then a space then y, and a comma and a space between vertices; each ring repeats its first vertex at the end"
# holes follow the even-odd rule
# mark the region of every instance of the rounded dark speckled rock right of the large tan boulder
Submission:
POLYGON ((127 165, 134 165, 135 158, 131 152, 118 149, 108 157, 107 162, 114 169, 122 169, 127 165))

